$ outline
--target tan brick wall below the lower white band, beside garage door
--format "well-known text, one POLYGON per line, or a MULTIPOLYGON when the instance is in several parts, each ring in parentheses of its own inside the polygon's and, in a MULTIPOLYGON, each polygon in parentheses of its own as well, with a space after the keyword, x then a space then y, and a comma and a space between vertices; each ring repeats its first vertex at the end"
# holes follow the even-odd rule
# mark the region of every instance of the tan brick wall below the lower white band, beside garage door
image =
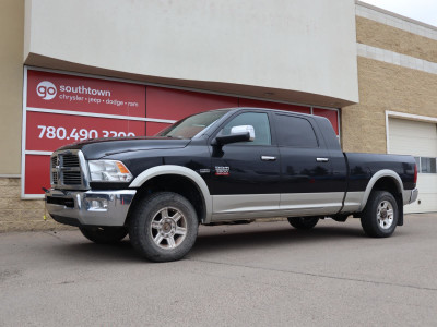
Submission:
POLYGON ((386 110, 437 117, 436 74, 358 57, 358 84, 359 104, 342 109, 345 152, 387 153, 386 110))

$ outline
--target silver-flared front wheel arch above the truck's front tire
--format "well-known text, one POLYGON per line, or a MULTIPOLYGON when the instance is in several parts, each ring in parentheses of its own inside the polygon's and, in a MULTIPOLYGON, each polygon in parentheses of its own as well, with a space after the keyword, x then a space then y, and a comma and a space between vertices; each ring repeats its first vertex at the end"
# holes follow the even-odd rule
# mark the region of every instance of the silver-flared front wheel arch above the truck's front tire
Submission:
POLYGON ((187 199, 192 203, 196 211, 198 213, 198 218, 202 222, 208 223, 211 220, 212 197, 206 183, 196 171, 182 166, 162 165, 144 170, 129 185, 130 189, 139 190, 133 198, 133 202, 135 202, 135 199, 138 201, 146 192, 150 192, 151 187, 153 189, 156 184, 160 184, 160 182, 165 181, 172 181, 173 184, 176 182, 177 186, 169 189, 162 187, 162 190, 160 189, 158 191, 176 191, 176 193, 186 196, 187 199), (178 190, 185 191, 181 192, 178 190), (196 194, 192 196, 187 196, 188 193, 192 193, 192 190, 196 190, 199 195, 201 208, 196 206, 193 203, 192 196, 196 197, 196 194))

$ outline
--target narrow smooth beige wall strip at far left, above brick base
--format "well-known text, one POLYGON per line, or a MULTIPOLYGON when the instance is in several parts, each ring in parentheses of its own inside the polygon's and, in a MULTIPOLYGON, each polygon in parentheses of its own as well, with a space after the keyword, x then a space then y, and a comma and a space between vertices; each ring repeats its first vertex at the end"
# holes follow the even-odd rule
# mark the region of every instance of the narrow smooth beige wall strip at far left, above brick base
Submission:
POLYGON ((0 179, 20 174, 24 0, 0 1, 0 179))

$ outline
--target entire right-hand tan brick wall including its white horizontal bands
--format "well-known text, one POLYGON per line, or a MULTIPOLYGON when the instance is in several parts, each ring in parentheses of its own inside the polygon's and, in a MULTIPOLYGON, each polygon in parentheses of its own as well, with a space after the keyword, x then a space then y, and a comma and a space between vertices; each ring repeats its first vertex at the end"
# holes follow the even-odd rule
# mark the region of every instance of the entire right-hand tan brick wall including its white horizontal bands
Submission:
POLYGON ((437 117, 437 28, 357 4, 359 104, 342 108, 345 152, 387 153, 386 110, 437 117))

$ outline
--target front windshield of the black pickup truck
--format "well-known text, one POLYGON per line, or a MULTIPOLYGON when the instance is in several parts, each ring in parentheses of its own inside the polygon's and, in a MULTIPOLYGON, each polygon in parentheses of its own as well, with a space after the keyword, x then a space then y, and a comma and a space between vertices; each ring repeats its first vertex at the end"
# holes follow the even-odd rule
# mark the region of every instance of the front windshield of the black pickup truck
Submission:
POLYGON ((227 112, 228 110, 216 110, 187 117, 157 133, 156 136, 192 138, 227 112))

